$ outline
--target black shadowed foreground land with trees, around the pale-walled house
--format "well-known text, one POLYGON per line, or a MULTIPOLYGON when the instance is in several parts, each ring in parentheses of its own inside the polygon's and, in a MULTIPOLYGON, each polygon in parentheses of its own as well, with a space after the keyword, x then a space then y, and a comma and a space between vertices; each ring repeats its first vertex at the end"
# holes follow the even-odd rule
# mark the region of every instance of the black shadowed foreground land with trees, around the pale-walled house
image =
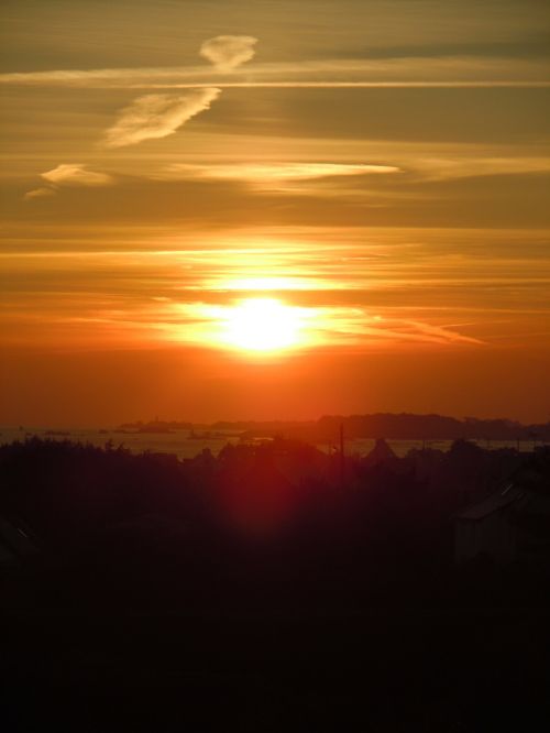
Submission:
POLYGON ((380 455, 2 447, 3 730, 535 730, 548 568, 457 566, 454 517, 548 451, 380 455))

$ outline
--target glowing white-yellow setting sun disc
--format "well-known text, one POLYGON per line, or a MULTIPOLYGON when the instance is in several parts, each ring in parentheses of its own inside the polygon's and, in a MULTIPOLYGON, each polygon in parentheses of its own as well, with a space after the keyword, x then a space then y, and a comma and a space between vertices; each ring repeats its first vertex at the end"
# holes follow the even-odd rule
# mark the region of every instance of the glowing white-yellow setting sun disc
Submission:
POLYGON ((302 326, 300 308, 277 298, 246 298, 230 309, 223 341, 245 351, 280 351, 299 346, 302 326))

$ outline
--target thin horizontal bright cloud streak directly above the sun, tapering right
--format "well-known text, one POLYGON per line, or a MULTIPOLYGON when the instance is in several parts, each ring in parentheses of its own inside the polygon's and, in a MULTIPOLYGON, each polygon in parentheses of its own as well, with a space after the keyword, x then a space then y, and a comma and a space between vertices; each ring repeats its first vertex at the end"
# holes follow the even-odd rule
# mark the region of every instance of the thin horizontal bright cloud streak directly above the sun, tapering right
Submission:
POLYGON ((362 176, 369 174, 398 173, 393 165, 351 163, 230 163, 221 165, 174 164, 166 168, 163 178, 202 178, 212 180, 240 180, 258 188, 278 188, 282 184, 331 178, 334 176, 362 176))

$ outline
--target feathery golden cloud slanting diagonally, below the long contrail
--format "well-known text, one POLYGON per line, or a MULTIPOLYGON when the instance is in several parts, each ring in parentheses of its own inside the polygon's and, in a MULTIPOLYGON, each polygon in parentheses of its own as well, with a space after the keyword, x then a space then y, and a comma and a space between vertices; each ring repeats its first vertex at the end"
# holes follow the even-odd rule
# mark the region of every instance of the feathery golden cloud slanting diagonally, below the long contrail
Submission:
POLYGON ((135 145, 143 140, 172 135, 191 117, 210 108, 220 89, 206 87, 183 95, 145 95, 121 110, 106 133, 107 147, 135 145))

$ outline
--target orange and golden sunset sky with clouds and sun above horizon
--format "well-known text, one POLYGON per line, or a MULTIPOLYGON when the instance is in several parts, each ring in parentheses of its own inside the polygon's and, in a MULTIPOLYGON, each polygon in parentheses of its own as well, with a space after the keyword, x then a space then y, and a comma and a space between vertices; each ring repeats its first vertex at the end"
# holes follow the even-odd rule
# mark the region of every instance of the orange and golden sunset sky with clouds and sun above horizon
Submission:
POLYGON ((4 0, 0 424, 550 419, 544 0, 4 0))

